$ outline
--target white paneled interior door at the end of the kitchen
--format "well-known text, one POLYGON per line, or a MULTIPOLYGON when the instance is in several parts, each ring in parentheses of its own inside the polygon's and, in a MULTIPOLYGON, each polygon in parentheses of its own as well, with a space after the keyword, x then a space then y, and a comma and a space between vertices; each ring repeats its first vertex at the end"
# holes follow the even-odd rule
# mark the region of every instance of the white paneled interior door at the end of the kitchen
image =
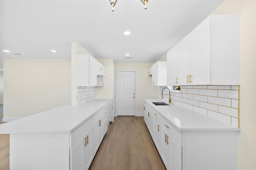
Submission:
POLYGON ((116 77, 117 115, 135 116, 135 71, 118 71, 116 77))

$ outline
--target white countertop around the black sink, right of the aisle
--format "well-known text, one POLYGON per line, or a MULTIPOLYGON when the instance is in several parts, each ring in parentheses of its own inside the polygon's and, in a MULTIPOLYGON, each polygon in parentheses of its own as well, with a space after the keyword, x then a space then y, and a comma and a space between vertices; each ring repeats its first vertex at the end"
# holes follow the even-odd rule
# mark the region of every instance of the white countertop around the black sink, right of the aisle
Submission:
POLYGON ((158 113, 166 117, 166 119, 175 125, 180 131, 240 131, 240 128, 228 125, 184 107, 172 104, 170 106, 156 106, 152 103, 165 102, 162 99, 144 100, 158 113))

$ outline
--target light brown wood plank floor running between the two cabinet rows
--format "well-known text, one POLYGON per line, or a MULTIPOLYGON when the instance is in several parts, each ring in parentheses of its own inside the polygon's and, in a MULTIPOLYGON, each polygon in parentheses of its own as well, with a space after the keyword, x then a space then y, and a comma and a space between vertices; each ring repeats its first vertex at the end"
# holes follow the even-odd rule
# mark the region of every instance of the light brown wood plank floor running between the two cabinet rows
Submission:
POLYGON ((108 131, 90 170, 165 170, 143 117, 118 116, 108 131))

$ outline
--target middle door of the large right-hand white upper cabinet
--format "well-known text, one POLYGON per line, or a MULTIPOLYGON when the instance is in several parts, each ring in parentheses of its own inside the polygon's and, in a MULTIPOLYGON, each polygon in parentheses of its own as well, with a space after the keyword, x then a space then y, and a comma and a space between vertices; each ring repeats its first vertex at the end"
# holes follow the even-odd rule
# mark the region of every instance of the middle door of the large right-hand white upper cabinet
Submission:
POLYGON ((192 85, 193 73, 191 72, 192 60, 192 41, 191 33, 179 43, 179 74, 180 85, 192 85))

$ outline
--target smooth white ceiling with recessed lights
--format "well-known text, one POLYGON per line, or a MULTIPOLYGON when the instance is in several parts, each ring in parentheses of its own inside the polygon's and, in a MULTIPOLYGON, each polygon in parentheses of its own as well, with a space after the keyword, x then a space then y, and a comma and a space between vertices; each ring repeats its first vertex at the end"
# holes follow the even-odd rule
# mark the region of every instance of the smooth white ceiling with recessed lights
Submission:
POLYGON ((72 42, 95 58, 153 63, 222 2, 148 0, 144 10, 140 0, 118 0, 112 12, 109 0, 1 0, 0 68, 3 58, 70 58, 72 42))

